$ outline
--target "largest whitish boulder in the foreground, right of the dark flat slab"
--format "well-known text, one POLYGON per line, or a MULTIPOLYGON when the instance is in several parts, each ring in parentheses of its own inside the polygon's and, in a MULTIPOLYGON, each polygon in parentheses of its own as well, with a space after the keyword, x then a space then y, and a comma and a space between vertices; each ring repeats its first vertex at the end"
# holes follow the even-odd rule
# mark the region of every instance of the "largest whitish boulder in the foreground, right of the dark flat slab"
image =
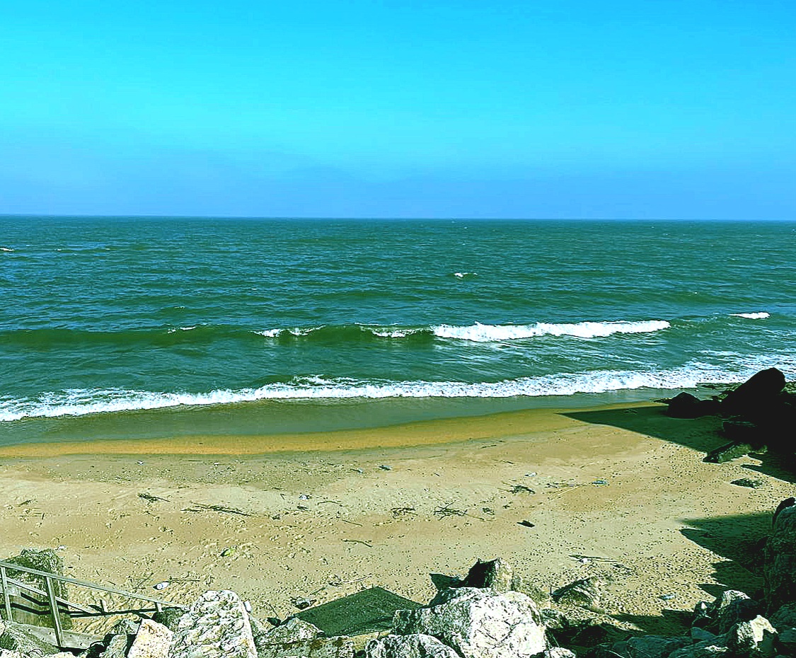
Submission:
POLYGON ((547 648, 536 605, 519 592, 446 590, 427 608, 398 610, 393 627, 400 635, 433 635, 463 658, 523 658, 547 648))

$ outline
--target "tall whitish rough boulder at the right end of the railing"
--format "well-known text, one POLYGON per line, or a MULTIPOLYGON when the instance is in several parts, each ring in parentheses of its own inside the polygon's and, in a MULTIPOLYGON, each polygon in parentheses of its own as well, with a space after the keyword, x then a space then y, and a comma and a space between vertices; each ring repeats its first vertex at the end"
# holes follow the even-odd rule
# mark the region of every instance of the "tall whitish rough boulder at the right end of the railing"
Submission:
POLYGON ((235 592, 202 594, 177 625, 170 658, 256 658, 252 626, 235 592))

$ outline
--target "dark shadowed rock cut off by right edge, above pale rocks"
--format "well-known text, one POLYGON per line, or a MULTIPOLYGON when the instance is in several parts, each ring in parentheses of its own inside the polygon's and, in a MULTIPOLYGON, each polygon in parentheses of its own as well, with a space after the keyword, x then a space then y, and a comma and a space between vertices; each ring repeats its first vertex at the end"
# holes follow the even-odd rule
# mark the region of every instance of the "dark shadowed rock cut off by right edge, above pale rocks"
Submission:
POLYGON ((793 504, 786 507, 780 504, 763 549, 763 591, 769 610, 796 602, 796 506, 793 504))

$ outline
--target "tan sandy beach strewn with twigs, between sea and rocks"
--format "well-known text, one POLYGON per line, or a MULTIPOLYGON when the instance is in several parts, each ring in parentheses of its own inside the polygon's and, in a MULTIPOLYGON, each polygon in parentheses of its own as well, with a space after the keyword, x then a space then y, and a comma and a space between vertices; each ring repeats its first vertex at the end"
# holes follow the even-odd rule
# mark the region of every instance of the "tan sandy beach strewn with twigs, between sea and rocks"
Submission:
POLYGON ((236 590, 260 618, 370 586, 427 602, 429 574, 500 556, 545 590, 602 574, 611 617, 667 633, 672 611, 754 593, 747 549, 793 490, 753 457, 703 463, 719 421, 662 408, 4 447, 0 554, 56 548, 73 578, 175 602, 236 590))

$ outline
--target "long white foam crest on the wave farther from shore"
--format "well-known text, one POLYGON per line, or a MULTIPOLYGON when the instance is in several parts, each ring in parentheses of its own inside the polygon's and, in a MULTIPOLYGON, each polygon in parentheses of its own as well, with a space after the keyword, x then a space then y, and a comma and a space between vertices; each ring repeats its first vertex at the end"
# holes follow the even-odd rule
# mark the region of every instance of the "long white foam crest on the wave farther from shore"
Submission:
POLYGON ((432 327, 434 335, 440 338, 455 338, 460 341, 489 343, 493 341, 513 341, 539 336, 573 336, 577 338, 596 338, 615 333, 650 333, 669 329, 665 320, 640 322, 577 322, 575 324, 550 324, 537 322, 536 325, 437 325, 432 327))

